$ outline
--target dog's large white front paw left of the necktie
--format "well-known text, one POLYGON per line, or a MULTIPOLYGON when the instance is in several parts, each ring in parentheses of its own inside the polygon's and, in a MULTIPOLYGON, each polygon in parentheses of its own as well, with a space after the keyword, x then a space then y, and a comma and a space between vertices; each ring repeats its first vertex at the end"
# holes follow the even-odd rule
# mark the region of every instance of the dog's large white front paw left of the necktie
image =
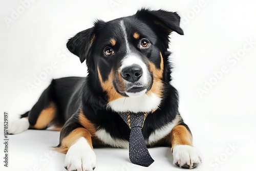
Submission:
POLYGON ((69 148, 64 166, 67 170, 94 170, 96 166, 96 156, 93 149, 85 138, 79 138, 69 148))

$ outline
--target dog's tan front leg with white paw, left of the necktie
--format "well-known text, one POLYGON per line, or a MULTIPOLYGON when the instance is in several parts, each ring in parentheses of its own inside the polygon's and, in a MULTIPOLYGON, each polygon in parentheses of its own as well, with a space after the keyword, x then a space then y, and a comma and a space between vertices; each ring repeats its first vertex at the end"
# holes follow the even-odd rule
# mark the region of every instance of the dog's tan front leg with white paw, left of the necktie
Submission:
POLYGON ((60 132, 60 143, 56 151, 67 154, 64 167, 67 170, 91 171, 96 165, 91 133, 77 120, 71 118, 60 132))

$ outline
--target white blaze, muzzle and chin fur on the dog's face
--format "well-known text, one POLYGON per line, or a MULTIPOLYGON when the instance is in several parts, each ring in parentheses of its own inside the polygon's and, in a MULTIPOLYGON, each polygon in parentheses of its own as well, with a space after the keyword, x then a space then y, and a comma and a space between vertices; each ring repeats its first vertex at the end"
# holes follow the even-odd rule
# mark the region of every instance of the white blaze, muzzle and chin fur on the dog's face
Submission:
POLYGON ((123 79, 123 82, 125 83, 125 89, 131 89, 134 87, 145 87, 145 89, 137 93, 126 92, 125 90, 123 93, 129 97, 121 97, 113 100, 108 103, 108 106, 115 112, 151 112, 158 108, 161 102, 161 98, 159 98, 154 93, 151 93, 150 95, 146 94, 147 87, 151 83, 150 72, 148 71, 146 63, 142 61, 141 57, 131 51, 123 20, 120 21, 120 27, 125 39, 126 53, 124 58, 121 60, 121 66, 118 69, 119 72, 121 72, 122 69, 126 67, 131 67, 132 65, 138 65, 142 69, 142 75, 140 79, 135 83, 131 83, 123 79))

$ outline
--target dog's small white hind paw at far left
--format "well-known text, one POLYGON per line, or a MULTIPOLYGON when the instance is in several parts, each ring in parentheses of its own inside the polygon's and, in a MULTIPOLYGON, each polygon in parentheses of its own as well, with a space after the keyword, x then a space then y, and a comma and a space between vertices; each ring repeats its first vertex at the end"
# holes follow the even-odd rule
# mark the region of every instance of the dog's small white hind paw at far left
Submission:
POLYGON ((19 134, 29 129, 29 120, 22 118, 10 124, 8 134, 19 134))

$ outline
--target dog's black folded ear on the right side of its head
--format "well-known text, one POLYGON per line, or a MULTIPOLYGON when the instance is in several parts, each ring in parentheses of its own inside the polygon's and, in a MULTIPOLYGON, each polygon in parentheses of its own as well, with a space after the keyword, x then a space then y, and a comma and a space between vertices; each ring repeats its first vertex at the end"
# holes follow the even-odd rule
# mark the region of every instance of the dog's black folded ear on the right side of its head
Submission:
POLYGON ((175 31, 183 35, 183 30, 180 28, 180 16, 176 12, 168 12, 164 10, 151 11, 148 9, 139 10, 135 16, 138 19, 143 20, 147 24, 157 26, 169 35, 172 31, 175 31))

